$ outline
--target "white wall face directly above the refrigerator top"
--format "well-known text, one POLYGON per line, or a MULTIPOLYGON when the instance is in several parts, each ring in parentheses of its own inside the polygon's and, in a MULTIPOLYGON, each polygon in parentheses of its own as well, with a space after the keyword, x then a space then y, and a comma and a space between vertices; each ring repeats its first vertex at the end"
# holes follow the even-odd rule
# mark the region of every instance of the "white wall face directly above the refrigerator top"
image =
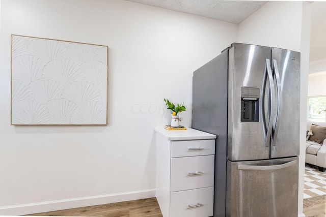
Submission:
POLYGON ((302 2, 268 2, 239 24, 238 41, 300 51, 302 2))

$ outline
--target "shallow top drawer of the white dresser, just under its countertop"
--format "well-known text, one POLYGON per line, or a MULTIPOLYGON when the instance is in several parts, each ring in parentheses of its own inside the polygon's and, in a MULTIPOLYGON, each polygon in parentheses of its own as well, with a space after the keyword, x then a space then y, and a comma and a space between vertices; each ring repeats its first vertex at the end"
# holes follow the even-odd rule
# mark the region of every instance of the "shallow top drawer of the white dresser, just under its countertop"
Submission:
POLYGON ((172 141, 171 157, 215 154, 215 140, 172 141))

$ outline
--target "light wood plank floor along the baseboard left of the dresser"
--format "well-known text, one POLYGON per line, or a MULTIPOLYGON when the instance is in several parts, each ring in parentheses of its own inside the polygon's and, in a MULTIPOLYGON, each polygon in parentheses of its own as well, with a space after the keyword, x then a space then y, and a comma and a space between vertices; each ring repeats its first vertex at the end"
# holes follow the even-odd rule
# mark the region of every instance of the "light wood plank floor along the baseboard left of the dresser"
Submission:
POLYGON ((162 217, 156 198, 42 212, 42 216, 162 217))

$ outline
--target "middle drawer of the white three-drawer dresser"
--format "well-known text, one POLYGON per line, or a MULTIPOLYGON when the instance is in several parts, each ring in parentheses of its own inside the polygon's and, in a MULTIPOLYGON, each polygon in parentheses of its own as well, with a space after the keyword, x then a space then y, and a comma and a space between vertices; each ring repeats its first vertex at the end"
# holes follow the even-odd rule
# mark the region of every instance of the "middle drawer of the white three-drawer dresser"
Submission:
POLYGON ((171 159, 171 192, 214 185, 214 156, 171 159))

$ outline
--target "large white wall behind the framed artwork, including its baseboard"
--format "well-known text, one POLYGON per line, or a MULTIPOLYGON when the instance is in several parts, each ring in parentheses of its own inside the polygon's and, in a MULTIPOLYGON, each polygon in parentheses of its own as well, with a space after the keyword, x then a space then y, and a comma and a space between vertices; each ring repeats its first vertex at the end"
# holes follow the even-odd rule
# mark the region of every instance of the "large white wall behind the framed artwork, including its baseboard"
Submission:
POLYGON ((153 127, 163 98, 184 102, 192 74, 236 41, 237 25, 116 0, 2 0, 0 214, 153 197, 153 127), (10 126, 11 34, 109 46, 108 126, 10 126))

